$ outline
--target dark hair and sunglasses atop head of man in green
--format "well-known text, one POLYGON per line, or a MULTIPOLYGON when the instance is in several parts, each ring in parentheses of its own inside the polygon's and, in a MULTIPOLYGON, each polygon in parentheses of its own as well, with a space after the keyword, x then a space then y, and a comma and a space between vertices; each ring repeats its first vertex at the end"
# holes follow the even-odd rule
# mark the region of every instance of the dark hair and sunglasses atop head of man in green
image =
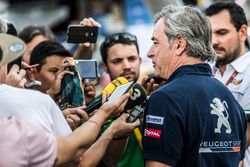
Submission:
POLYGON ((105 64, 107 64, 108 49, 111 46, 113 46, 114 44, 118 44, 118 43, 135 45, 137 52, 139 54, 139 47, 138 47, 136 36, 134 36, 128 32, 112 34, 112 35, 109 35, 105 38, 105 40, 103 41, 103 43, 101 44, 101 47, 100 47, 102 61, 105 64))

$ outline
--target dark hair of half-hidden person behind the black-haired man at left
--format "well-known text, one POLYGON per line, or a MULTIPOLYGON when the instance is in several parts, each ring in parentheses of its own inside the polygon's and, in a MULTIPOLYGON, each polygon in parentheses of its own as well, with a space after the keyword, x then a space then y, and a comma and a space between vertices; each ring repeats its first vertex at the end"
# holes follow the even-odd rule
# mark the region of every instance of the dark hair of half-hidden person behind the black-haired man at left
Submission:
POLYGON ((47 37, 49 40, 55 40, 55 35, 51 31, 49 27, 46 26, 27 26, 25 27, 19 34, 19 38, 21 38, 25 43, 29 43, 35 36, 43 35, 47 37))

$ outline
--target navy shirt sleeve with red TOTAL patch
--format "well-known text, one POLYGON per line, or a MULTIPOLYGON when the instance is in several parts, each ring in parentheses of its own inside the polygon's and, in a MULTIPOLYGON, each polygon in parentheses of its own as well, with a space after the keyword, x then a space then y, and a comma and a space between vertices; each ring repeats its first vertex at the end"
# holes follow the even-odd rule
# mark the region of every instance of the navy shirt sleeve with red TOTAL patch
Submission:
POLYGON ((184 116, 180 101, 154 93, 144 115, 144 159, 176 166, 183 146, 184 116))

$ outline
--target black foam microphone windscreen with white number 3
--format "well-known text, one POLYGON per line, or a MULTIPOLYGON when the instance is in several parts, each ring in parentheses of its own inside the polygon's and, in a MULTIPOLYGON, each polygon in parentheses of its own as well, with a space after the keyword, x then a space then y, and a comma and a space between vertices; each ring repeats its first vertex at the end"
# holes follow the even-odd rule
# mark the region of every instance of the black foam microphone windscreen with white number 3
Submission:
POLYGON ((147 99, 146 90, 138 83, 135 83, 131 88, 132 94, 130 95, 125 109, 133 109, 136 105, 142 105, 147 99))

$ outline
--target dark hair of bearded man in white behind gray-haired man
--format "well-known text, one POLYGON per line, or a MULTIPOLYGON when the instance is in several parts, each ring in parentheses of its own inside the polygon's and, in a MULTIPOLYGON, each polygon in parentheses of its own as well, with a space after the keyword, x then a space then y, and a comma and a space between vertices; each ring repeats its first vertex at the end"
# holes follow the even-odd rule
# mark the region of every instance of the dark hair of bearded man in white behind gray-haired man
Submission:
MULTIPOLYGON (((213 16, 222 10, 229 12, 231 22, 237 31, 240 30, 242 25, 247 25, 247 18, 243 8, 234 2, 217 2, 210 5, 204 12, 207 16, 213 16)), ((248 48, 250 47, 248 40, 245 41, 245 44, 248 48)))

